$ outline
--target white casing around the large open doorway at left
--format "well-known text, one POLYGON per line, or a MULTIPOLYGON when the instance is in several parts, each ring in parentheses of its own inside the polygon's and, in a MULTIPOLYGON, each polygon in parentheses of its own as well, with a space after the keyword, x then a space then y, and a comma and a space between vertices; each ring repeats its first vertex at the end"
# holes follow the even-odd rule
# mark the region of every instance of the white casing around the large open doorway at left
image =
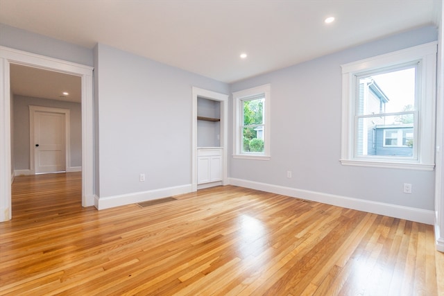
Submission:
POLYGON ((82 87, 82 205, 94 205, 93 67, 0 46, 0 222, 12 218, 10 64, 59 71, 81 78, 82 87))

